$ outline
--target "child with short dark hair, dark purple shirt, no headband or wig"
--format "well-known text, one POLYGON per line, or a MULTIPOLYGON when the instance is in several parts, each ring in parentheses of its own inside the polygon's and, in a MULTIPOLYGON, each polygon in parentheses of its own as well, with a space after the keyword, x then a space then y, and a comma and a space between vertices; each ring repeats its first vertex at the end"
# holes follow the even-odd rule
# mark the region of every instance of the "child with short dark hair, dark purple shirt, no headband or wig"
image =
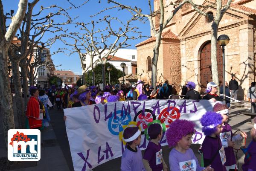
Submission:
POLYGON ((163 136, 162 125, 159 123, 151 124, 148 127, 150 141, 145 150, 143 165, 146 171, 167 171, 167 165, 162 157, 162 147, 159 143, 163 136))

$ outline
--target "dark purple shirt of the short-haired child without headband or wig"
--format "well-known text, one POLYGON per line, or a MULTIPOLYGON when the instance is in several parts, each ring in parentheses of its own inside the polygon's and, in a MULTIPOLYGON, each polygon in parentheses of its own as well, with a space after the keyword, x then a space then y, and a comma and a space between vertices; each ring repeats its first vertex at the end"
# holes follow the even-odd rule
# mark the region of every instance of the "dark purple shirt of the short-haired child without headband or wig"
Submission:
POLYGON ((162 147, 160 143, 156 145, 154 142, 148 142, 143 159, 148 160, 149 166, 152 171, 162 171, 162 147))

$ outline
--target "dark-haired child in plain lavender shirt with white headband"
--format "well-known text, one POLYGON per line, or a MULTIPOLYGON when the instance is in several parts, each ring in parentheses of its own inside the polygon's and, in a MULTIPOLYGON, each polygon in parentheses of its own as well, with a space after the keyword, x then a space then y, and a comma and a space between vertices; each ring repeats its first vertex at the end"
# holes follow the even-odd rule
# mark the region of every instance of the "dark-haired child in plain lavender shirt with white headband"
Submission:
POLYGON ((143 162, 140 148, 141 131, 139 127, 128 127, 123 132, 123 140, 127 142, 121 160, 121 171, 146 171, 143 162))

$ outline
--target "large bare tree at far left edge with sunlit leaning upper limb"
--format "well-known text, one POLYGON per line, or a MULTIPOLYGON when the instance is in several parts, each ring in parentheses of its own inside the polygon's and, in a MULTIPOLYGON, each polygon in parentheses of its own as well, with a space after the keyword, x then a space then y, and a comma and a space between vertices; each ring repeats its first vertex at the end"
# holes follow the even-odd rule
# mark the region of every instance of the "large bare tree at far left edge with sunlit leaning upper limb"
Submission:
POLYGON ((13 106, 12 106, 12 93, 10 89, 9 75, 7 69, 8 49, 12 40, 19 29, 21 22, 25 16, 27 9, 27 0, 20 0, 18 10, 8 30, 6 31, 6 16, 3 14, 3 3, 0 0, 0 102, 1 111, 3 114, 3 134, 7 147, 7 132, 9 129, 15 129, 13 106), (4 107, 3 107, 4 106, 4 107))

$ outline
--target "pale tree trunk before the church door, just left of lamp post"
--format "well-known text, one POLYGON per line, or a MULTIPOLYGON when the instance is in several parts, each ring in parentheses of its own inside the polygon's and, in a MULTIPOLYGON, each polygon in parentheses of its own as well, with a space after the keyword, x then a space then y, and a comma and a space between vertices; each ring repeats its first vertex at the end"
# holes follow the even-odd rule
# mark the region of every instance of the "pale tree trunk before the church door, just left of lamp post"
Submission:
POLYGON ((217 63, 217 35, 218 26, 215 22, 212 23, 211 35, 211 62, 212 62, 212 81, 219 84, 218 80, 218 63, 217 63))

